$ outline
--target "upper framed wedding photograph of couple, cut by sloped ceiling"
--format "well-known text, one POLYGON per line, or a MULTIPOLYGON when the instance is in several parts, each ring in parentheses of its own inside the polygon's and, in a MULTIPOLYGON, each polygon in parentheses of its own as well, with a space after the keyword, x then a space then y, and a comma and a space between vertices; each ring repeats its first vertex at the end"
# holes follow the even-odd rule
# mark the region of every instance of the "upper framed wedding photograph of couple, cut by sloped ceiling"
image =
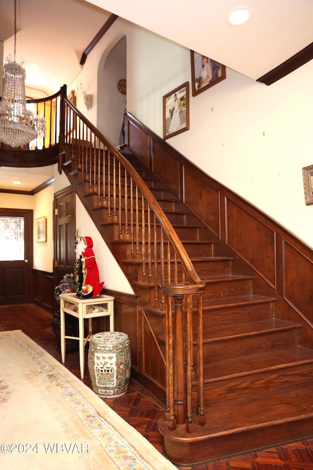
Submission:
POLYGON ((226 67, 199 52, 190 51, 192 95, 196 96, 226 78, 226 67))

